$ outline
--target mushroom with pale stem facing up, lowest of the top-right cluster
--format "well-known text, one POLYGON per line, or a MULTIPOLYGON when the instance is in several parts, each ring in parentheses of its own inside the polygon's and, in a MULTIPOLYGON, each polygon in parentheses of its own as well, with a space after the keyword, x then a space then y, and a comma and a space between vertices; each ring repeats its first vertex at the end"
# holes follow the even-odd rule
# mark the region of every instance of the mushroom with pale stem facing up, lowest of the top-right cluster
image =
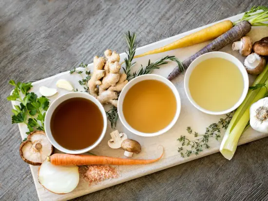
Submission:
POLYGON ((256 53, 252 53, 247 56, 244 65, 249 74, 260 74, 265 68, 266 59, 256 53))

